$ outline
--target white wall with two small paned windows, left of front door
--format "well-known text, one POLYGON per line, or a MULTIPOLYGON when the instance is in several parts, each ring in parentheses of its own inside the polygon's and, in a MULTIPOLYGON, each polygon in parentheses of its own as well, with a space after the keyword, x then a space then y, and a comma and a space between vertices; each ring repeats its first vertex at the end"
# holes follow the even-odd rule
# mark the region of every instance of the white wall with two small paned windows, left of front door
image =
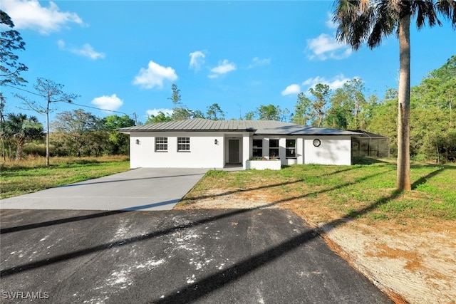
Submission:
POLYGON ((132 132, 130 167, 223 168, 225 145, 220 132, 132 132), (167 152, 155 151, 155 137, 167 137, 167 152), (177 151, 177 137, 190 137, 190 152, 177 151))

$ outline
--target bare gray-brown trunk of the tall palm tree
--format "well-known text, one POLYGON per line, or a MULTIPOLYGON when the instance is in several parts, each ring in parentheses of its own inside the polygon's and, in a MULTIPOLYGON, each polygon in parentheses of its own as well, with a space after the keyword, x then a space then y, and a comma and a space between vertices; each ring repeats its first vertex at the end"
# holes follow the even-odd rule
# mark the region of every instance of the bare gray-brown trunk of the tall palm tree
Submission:
POLYGON ((399 20, 398 178, 396 187, 410 184, 410 14, 399 20))

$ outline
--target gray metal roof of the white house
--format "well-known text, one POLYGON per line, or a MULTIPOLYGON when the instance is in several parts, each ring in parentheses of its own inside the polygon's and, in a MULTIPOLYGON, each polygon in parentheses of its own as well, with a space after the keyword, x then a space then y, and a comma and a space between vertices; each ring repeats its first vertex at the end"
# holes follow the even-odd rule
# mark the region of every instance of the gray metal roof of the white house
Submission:
POLYGON ((296 125, 275 120, 206 120, 194 118, 175 122, 158 122, 150 125, 123 127, 119 132, 157 131, 249 131, 256 135, 357 135, 356 132, 296 125))

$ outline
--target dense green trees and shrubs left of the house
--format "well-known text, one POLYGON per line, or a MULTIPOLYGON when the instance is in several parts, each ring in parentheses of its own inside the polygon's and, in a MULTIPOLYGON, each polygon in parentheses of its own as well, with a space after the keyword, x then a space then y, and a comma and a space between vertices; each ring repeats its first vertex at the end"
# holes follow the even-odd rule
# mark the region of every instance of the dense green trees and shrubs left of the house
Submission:
MULTIPOLYGON (((48 154, 52 156, 100 157, 128 155, 129 137, 116 130, 131 127, 128 115, 96 117, 83 109, 63 111, 51 122, 48 154)), ((46 156, 46 132, 35 116, 9 113, 1 122, 2 158, 21 159, 25 154, 46 156)))

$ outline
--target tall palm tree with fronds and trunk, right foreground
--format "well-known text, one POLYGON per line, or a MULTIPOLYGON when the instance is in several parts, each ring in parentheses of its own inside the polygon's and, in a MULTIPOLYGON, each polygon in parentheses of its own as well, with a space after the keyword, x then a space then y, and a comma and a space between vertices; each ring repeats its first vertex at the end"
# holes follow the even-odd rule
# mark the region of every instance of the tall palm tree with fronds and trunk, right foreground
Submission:
POLYGON ((369 48, 380 45, 393 31, 399 39, 398 88, 398 176, 396 187, 410 190, 410 20, 416 19, 418 29, 442 25, 441 14, 456 29, 455 0, 338 0, 334 4, 333 21, 338 25, 336 38, 353 50, 367 43, 369 48))

